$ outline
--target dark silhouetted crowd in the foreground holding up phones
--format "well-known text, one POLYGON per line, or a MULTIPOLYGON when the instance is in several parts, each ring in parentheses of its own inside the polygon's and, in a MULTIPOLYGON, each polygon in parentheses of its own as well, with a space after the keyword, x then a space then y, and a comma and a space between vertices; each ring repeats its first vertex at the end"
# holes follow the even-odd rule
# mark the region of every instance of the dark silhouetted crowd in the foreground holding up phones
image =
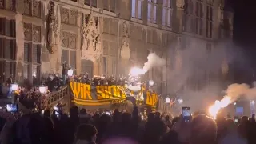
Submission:
POLYGON ((4 144, 255 144, 256 122, 246 116, 234 122, 218 116, 194 114, 190 121, 158 112, 146 119, 135 106, 132 114, 114 110, 113 114, 87 114, 74 106, 70 114, 44 110, 10 119, 0 118, 4 144), (42 113, 43 112, 43 113, 42 113))

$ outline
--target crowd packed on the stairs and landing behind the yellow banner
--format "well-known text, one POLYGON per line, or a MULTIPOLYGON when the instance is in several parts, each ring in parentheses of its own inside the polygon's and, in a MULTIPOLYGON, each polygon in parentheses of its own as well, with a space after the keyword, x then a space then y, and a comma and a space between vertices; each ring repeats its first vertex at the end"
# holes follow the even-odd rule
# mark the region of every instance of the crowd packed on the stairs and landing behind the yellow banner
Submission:
MULTIPOLYGON (((98 86, 98 85, 124 85, 127 82, 127 78, 120 75, 119 77, 110 76, 94 76, 94 78, 90 78, 89 74, 80 74, 80 75, 73 75, 72 77, 67 77, 66 74, 61 76, 60 74, 49 74, 47 78, 42 78, 40 82, 41 85, 33 86, 28 79, 24 79, 24 81, 19 84, 19 88, 17 90, 16 95, 19 98, 19 102, 22 105, 26 106, 29 109, 38 108, 40 110, 46 109, 48 106, 48 96, 51 92, 58 91, 62 88, 62 86, 68 84, 68 82, 82 82, 87 83, 90 85, 98 86), (39 86, 46 86, 48 88, 46 94, 42 94, 39 91, 39 86)), ((7 78, 6 87, 7 97, 12 97, 11 93, 11 84, 14 83, 15 80, 10 75, 10 78, 7 78)), ((0 86, 0 94, 2 93, 2 83, 0 86)))

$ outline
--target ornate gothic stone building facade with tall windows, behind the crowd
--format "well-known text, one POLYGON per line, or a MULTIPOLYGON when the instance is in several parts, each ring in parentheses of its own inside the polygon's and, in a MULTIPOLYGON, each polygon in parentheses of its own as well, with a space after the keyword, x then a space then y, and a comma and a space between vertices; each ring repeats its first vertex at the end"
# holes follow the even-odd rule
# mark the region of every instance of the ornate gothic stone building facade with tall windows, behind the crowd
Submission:
MULTIPOLYGON (((0 74, 17 82, 62 74, 128 74, 150 52, 165 58, 168 70, 182 65, 179 50, 196 39, 213 49, 232 36, 233 14, 222 0, 0 0, 0 74), (223 29, 223 23, 229 30, 223 29), (170 47, 171 46, 171 47, 170 47), (176 51, 171 58, 169 50, 176 51)), ((150 70, 158 88, 168 74, 150 70)), ((159 89, 158 89, 159 90, 159 89)), ((163 92, 162 92, 163 93, 163 92)))

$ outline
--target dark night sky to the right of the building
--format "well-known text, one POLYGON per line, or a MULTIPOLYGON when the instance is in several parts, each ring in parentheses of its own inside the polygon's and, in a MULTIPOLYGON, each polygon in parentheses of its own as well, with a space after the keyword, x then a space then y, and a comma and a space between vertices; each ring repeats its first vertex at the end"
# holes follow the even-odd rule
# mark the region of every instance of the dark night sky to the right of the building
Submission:
POLYGON ((256 7, 255 0, 230 0, 234 10, 234 43, 244 53, 246 64, 234 68, 234 82, 256 80, 256 7))

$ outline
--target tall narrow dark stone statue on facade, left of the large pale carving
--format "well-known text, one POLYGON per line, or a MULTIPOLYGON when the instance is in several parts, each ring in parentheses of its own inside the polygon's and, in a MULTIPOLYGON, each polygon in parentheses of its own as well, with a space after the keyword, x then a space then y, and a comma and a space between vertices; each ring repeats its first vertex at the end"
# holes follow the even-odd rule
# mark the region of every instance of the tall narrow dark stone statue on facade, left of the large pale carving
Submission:
POLYGON ((48 19, 47 19, 47 49, 50 54, 53 54, 57 49, 57 38, 58 38, 58 16, 55 12, 55 4, 53 1, 49 2, 48 5, 48 19))

